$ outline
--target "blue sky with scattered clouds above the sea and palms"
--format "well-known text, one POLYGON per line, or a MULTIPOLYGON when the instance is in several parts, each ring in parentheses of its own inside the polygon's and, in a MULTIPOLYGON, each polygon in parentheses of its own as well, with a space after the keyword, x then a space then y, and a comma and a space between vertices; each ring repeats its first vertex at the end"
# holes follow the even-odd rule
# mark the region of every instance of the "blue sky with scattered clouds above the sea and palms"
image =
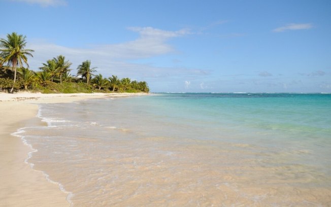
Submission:
POLYGON ((331 1, 0 0, 35 50, 30 69, 64 55, 72 75, 147 81, 152 92, 331 92, 331 1))

